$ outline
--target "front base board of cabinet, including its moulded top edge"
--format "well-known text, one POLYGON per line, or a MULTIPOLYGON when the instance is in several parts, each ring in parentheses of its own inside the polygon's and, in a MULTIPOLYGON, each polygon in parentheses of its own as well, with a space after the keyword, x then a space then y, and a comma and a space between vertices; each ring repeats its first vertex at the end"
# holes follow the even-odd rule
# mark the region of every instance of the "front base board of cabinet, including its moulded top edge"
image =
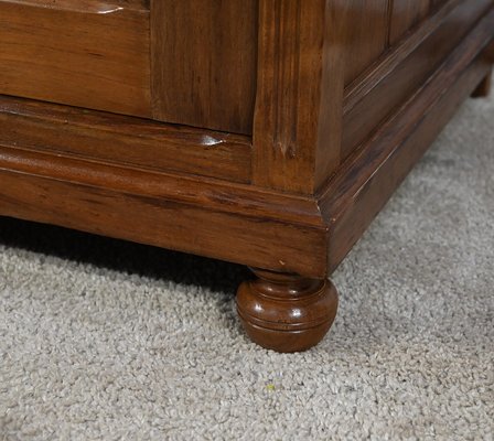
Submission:
POLYGON ((0 146, 0 214, 320 277, 314 200, 0 146))

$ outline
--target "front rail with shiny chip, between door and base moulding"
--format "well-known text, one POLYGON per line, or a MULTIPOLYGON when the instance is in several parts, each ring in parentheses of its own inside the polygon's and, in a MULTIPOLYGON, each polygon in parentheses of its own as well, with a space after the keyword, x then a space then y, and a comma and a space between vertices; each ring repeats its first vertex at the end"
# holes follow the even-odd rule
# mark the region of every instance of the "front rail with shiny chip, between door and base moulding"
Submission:
POLYGON ((250 182, 249 138, 0 96, 3 144, 250 182))

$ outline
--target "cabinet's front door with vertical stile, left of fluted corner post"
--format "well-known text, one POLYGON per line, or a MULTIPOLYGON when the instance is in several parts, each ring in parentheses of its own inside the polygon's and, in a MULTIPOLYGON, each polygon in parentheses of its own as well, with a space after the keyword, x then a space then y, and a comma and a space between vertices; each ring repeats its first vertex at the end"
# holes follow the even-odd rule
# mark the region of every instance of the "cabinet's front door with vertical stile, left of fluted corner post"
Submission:
POLYGON ((251 133, 258 0, 0 0, 0 94, 251 133))

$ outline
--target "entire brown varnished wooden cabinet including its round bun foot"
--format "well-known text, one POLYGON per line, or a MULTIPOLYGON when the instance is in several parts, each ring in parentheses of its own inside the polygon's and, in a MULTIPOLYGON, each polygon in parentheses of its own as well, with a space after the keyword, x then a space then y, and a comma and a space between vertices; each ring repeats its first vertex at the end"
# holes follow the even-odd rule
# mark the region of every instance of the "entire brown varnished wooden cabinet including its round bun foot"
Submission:
POLYGON ((0 215, 248 265, 249 335, 308 348, 493 37, 493 0, 0 0, 0 215))

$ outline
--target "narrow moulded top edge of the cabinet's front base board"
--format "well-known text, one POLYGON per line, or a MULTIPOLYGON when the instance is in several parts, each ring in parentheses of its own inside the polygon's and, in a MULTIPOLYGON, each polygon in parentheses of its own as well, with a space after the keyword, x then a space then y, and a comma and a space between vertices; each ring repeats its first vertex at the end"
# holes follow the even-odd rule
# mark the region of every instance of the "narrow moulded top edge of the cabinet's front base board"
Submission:
POLYGON ((20 173, 94 187, 104 182, 106 187, 115 192, 198 205, 206 211, 244 214, 259 219, 272 218, 315 229, 324 227, 315 201, 311 197, 280 194, 196 175, 72 158, 60 152, 32 151, 20 146, 0 143, 0 152, 1 161, 11 164, 12 170, 20 173))

